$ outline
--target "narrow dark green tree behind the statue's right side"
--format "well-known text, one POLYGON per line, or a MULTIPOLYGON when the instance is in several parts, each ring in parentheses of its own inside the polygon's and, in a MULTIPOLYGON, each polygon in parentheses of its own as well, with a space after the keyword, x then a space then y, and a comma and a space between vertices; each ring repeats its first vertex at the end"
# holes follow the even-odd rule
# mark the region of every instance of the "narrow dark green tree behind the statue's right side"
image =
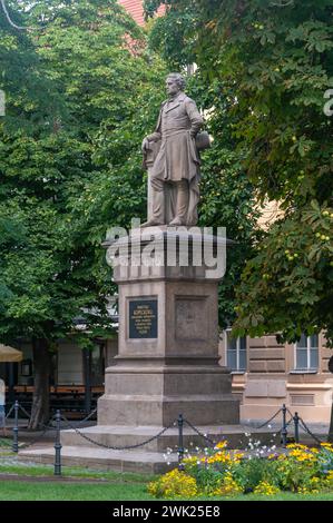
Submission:
POLYGON ((208 82, 199 70, 188 78, 188 93, 206 115, 205 128, 213 138, 212 148, 202 155, 199 225, 215 229, 225 227, 227 237, 235 241, 227 249, 226 274, 219 284, 219 327, 224 329, 235 320, 235 287, 261 236, 259 210, 242 166, 244 154, 235 151, 232 138, 228 117, 232 98, 222 97, 219 83, 208 82))

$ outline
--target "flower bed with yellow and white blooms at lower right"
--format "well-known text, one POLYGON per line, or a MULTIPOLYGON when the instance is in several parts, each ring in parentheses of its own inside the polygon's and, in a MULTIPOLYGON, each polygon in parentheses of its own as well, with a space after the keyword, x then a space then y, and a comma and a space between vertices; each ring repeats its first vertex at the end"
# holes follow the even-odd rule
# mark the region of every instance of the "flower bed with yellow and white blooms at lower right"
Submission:
POLYGON ((254 493, 275 495, 280 492, 300 494, 333 491, 333 445, 320 448, 292 444, 283 454, 262 456, 227 451, 227 442, 218 443, 204 457, 195 455, 184 460, 178 468, 149 483, 155 497, 234 496, 254 493))

